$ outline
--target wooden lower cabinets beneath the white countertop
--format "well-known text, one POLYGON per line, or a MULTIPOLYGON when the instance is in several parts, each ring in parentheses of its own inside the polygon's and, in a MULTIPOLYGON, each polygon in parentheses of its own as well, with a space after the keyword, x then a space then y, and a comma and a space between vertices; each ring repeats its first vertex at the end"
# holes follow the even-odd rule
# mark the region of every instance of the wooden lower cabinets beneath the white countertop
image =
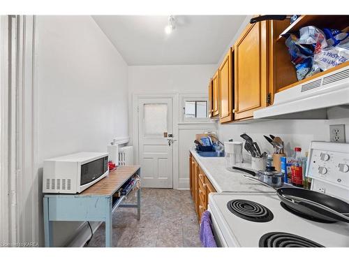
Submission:
POLYGON ((209 193, 216 192, 216 189, 213 187, 192 154, 189 159, 191 196, 193 197, 195 212, 198 215, 198 221, 200 223, 202 213, 207 210, 209 193))

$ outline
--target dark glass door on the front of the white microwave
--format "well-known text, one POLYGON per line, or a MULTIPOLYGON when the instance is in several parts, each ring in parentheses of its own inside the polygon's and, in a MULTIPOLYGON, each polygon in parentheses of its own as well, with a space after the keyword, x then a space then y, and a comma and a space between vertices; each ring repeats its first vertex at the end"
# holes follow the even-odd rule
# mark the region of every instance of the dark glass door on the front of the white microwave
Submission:
POLYGON ((102 157, 81 165, 80 186, 84 186, 104 175, 107 172, 108 158, 102 157))

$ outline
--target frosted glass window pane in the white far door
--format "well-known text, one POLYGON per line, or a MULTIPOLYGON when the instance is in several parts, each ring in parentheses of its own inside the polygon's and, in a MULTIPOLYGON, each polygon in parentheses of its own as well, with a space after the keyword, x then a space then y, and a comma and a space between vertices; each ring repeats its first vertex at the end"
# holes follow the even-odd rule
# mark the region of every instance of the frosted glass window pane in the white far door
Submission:
POLYGON ((144 136, 163 136, 168 131, 168 105, 144 104, 144 136))

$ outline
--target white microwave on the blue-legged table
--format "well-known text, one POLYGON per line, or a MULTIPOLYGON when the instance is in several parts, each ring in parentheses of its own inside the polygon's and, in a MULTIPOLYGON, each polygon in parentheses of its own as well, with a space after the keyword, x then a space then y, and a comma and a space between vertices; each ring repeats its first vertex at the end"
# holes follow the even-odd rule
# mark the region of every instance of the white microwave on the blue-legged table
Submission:
POLYGON ((108 154, 80 152, 46 159, 43 193, 76 194, 109 174, 108 154))

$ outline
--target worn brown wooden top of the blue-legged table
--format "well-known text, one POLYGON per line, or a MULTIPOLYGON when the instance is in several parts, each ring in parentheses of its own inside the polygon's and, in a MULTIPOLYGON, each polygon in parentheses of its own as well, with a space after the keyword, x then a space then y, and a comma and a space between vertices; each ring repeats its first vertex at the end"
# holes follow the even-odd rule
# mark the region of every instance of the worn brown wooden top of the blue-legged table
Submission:
POLYGON ((140 166, 119 166, 79 195, 112 195, 140 169, 140 166))

